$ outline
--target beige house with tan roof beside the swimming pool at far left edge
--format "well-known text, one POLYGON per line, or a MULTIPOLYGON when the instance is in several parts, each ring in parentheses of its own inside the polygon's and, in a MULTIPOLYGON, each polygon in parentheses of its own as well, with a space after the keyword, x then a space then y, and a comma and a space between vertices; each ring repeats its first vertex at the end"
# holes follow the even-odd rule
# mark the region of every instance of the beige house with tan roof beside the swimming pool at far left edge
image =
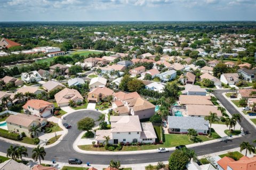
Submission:
POLYGON ((33 127, 41 130, 47 124, 45 118, 26 114, 10 115, 5 121, 8 131, 20 134, 24 132, 28 137, 33 127))

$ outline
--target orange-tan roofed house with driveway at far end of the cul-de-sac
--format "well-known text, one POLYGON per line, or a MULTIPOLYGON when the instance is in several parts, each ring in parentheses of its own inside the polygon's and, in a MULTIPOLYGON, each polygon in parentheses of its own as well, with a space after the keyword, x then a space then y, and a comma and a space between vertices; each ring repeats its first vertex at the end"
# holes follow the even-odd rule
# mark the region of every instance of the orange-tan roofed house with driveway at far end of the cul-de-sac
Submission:
POLYGON ((99 103, 106 96, 113 95, 113 93, 114 91, 107 87, 97 87, 89 92, 87 100, 89 101, 89 103, 99 103))

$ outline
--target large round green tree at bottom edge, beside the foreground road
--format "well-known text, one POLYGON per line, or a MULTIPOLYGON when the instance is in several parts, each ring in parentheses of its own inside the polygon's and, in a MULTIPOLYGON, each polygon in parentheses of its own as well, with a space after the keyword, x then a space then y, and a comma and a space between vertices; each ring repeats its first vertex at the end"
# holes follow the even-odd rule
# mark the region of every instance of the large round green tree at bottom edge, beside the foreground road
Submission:
POLYGON ((168 161, 169 167, 171 167, 172 170, 184 170, 189 162, 189 158, 181 150, 175 150, 168 161))

